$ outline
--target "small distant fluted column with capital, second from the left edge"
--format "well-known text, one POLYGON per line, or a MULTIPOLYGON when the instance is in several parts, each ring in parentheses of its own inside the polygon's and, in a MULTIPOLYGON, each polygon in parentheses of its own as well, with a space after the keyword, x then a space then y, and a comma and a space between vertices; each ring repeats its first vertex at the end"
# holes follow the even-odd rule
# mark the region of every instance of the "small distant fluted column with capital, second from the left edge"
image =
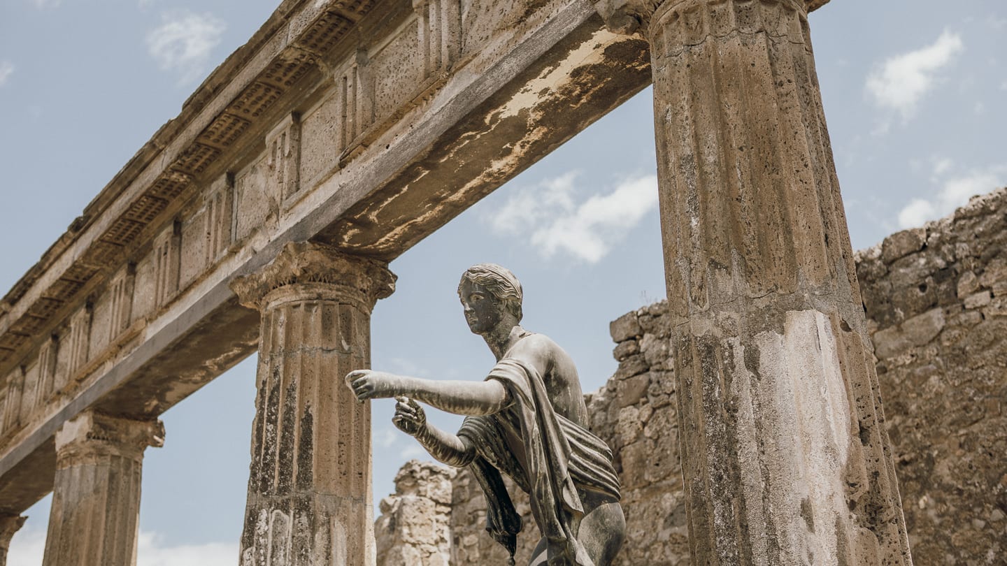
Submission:
POLYGON ((133 566, 140 471, 161 421, 87 411, 56 433, 56 475, 42 566, 133 566))

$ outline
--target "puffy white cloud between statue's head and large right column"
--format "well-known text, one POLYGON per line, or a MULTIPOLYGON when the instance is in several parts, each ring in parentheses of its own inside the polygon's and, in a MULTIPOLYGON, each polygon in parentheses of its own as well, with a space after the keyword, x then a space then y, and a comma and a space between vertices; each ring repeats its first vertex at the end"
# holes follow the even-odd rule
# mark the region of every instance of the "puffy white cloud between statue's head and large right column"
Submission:
POLYGON ((658 178, 629 177, 607 194, 577 202, 576 172, 519 190, 489 219, 498 234, 522 236, 545 258, 565 253, 597 263, 658 204, 658 178))

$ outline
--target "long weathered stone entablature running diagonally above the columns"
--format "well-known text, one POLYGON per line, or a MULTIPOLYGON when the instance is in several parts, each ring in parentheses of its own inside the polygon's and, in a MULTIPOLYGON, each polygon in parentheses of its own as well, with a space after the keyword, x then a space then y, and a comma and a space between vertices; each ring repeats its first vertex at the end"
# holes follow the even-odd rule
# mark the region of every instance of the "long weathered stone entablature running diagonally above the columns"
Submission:
POLYGON ((590 3, 483 8, 286 1, 206 80, 2 302, 0 513, 78 412, 155 417, 254 351, 234 277, 307 239, 390 260, 650 82, 590 3))

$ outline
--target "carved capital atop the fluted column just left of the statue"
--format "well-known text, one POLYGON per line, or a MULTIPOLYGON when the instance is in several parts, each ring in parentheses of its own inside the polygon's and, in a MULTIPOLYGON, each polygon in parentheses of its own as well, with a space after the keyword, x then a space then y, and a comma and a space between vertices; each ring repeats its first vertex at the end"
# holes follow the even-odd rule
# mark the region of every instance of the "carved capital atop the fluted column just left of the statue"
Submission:
POLYGON ((395 291, 396 279, 386 262, 314 242, 291 242, 262 271, 232 281, 231 289, 243 305, 264 310, 278 289, 299 285, 317 291, 321 285, 328 294, 363 301, 370 311, 395 291))

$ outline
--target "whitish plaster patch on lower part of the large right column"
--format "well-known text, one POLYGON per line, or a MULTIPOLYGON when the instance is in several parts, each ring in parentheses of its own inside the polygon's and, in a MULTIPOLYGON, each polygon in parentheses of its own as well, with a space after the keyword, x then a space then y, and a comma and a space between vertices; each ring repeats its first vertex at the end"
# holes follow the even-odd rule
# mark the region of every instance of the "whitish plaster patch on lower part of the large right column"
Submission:
POLYGON ((736 380, 735 387, 743 399, 757 398, 762 411, 754 415, 745 408, 741 417, 752 421, 739 423, 739 429, 746 429, 749 455, 754 455, 757 431, 776 431, 776 436, 763 438, 764 455, 746 466, 764 466, 774 478, 769 485, 758 474, 745 478, 746 500, 760 501, 759 489, 769 489, 766 509, 748 506, 749 526, 772 521, 787 563, 812 556, 815 564, 838 565, 838 540, 853 531, 841 481, 851 421, 831 322, 817 310, 788 311, 782 334, 766 330, 753 342, 760 379, 736 380), (813 525, 835 525, 847 533, 813 525))

